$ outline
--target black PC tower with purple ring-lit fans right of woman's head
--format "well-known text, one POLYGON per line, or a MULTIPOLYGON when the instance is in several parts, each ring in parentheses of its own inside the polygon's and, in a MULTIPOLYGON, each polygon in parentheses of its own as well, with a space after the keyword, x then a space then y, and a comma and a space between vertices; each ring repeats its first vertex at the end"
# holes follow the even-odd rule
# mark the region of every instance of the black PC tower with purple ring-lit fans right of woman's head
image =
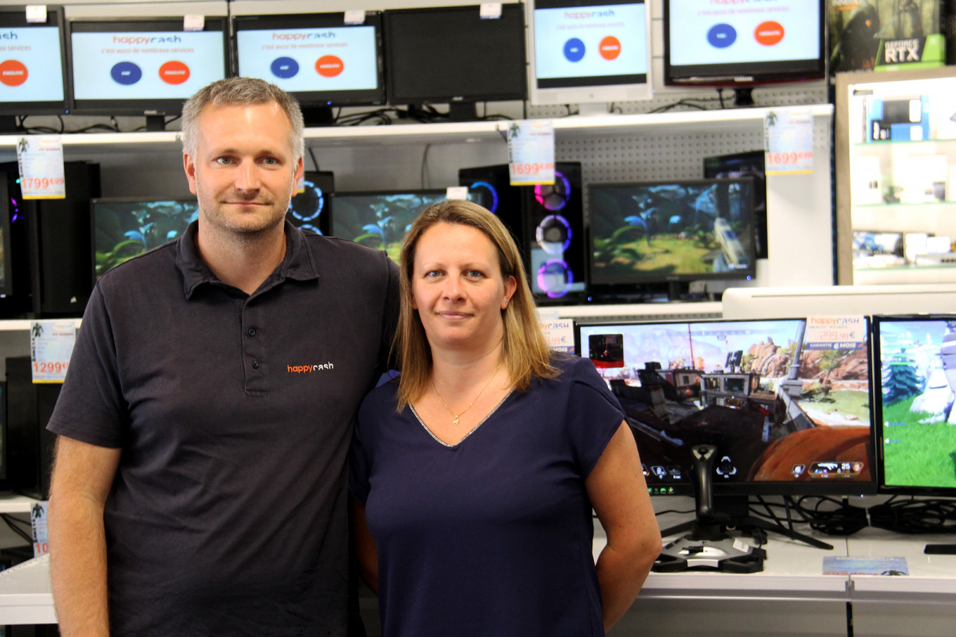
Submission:
POLYGON ((587 248, 579 162, 556 162, 553 185, 512 186, 505 164, 463 168, 458 182, 511 230, 539 304, 580 300, 587 248))

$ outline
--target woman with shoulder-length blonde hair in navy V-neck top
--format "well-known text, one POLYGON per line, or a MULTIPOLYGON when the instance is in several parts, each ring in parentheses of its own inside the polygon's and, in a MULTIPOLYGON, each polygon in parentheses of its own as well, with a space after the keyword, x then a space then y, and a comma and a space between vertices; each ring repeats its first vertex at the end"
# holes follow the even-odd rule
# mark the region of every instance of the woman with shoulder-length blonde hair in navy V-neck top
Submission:
POLYGON ((617 401, 590 361, 548 348, 517 248, 481 206, 426 209, 401 270, 402 376, 366 397, 352 452, 382 634, 603 635, 661 549, 617 401))

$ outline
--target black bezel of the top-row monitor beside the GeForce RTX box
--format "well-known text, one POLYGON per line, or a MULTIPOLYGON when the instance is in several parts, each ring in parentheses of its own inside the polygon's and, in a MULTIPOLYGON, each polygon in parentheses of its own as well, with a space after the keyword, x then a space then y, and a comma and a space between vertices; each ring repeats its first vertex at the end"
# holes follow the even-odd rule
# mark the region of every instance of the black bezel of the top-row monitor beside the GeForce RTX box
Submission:
MULTIPOLYGON (((806 0, 803 0, 804 2, 806 0)), ((670 3, 663 0, 663 84, 664 86, 748 88, 768 84, 786 84, 824 79, 827 76, 827 10, 825 0, 817 0, 819 47, 816 58, 775 62, 735 64, 695 64, 676 67, 670 52, 676 46, 670 38, 670 3)))

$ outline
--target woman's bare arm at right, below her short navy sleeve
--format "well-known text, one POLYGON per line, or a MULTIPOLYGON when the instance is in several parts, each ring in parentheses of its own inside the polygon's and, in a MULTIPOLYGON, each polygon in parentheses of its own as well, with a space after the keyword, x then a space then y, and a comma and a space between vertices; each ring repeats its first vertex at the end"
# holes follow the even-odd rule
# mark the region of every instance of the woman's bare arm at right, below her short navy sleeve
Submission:
POLYGON ((607 546, 597 558, 606 632, 634 603, 661 553, 661 530, 647 494, 638 446, 626 422, 621 422, 584 486, 607 533, 607 546))

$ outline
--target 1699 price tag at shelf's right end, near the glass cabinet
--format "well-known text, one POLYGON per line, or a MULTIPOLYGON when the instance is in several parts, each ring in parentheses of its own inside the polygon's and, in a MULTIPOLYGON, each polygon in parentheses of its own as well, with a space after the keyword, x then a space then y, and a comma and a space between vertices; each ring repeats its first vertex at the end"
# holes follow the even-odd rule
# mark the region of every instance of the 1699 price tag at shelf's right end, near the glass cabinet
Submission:
POLYGON ((814 172, 814 116, 809 109, 771 111, 764 118, 767 175, 814 172))

